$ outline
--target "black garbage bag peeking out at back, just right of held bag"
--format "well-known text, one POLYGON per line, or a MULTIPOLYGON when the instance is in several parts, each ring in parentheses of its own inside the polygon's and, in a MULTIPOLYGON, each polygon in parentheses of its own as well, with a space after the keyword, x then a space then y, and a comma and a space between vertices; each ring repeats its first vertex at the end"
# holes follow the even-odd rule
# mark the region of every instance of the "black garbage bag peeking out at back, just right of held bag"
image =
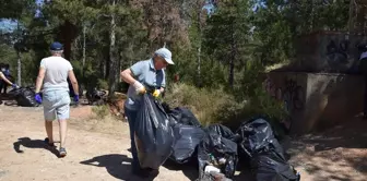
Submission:
POLYGON ((177 107, 175 109, 171 109, 168 114, 169 114, 170 119, 173 121, 175 121, 175 123, 182 123, 185 125, 201 126, 199 120, 196 118, 196 116, 188 108, 177 107))

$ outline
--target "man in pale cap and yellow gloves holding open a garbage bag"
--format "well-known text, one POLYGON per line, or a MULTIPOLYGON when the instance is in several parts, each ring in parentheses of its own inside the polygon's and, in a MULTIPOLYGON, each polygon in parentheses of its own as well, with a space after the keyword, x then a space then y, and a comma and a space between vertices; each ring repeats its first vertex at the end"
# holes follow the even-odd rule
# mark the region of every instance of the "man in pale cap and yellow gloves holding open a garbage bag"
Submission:
POLYGON ((158 97, 165 89, 166 76, 164 69, 168 64, 174 64, 171 52, 166 48, 155 51, 153 58, 139 61, 129 69, 121 72, 121 79, 130 84, 128 99, 125 101, 125 113, 128 118, 131 140, 132 173, 140 177, 149 177, 152 170, 140 167, 137 146, 134 142, 134 123, 138 110, 141 107, 143 94, 152 93, 158 97))

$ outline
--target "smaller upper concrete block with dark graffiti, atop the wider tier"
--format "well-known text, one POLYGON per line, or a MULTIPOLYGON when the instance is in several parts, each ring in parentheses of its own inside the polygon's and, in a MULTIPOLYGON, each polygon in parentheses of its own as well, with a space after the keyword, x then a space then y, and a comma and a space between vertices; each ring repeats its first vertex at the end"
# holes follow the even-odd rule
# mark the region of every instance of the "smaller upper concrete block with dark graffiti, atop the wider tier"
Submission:
POLYGON ((296 41, 296 59, 293 71, 357 73, 360 51, 357 46, 366 43, 366 36, 343 32, 320 31, 301 35, 296 41))

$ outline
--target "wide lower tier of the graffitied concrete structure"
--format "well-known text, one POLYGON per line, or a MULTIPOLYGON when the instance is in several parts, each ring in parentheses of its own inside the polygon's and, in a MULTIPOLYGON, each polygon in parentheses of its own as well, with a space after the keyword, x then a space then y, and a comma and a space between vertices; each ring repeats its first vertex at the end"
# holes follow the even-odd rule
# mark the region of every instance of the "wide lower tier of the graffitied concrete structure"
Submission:
POLYGON ((347 121, 363 110, 364 81, 358 75, 271 72, 265 85, 285 104, 293 134, 347 121))

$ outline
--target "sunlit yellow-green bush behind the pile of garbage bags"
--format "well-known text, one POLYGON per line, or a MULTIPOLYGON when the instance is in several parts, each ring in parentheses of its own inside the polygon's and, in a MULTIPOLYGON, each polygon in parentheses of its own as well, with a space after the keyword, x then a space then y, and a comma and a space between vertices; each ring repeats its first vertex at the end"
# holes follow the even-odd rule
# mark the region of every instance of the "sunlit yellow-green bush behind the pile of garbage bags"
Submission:
POLYGON ((223 88, 198 88, 188 84, 174 84, 164 101, 171 108, 188 107, 203 124, 222 123, 236 130, 239 124, 256 116, 265 116, 273 126, 286 114, 282 102, 269 96, 262 87, 253 89, 250 98, 235 98, 223 88))

